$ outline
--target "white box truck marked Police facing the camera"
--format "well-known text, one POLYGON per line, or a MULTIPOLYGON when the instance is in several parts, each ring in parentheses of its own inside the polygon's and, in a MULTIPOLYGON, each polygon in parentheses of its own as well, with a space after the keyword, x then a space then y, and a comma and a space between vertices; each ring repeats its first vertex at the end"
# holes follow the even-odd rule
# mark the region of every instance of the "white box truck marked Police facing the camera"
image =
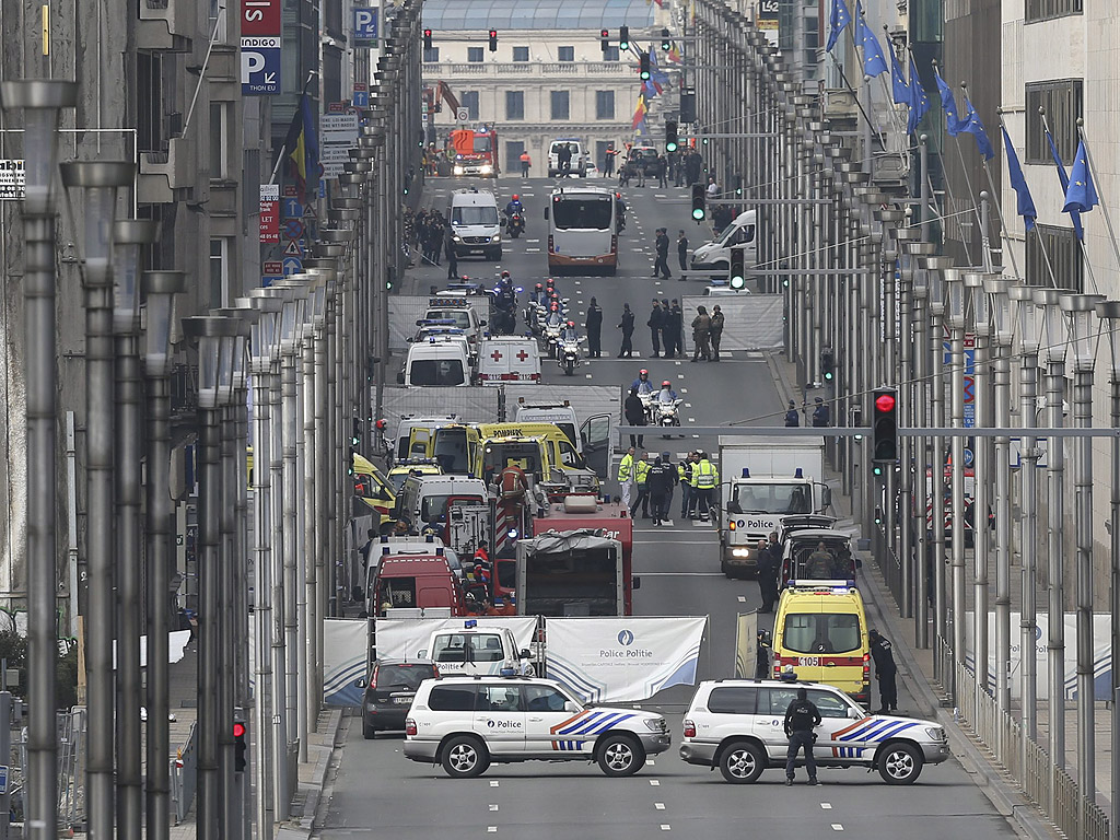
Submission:
POLYGON ((728 577, 755 569, 758 541, 781 530, 785 516, 823 513, 832 501, 824 438, 721 437, 719 467, 719 557, 728 577))

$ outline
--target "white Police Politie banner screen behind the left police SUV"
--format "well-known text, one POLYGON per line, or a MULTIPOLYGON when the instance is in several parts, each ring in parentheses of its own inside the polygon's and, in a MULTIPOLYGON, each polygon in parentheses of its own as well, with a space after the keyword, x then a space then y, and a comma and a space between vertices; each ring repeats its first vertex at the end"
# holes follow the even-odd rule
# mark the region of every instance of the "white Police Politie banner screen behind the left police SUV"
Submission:
POLYGON ((588 702, 647 700, 694 685, 707 616, 549 618, 545 675, 588 702))

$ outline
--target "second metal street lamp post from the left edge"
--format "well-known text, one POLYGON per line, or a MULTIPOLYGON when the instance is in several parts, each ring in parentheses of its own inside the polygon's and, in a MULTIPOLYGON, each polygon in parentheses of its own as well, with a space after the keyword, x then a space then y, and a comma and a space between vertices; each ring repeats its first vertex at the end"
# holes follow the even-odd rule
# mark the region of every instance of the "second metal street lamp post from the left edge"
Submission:
MULTIPOLYGON (((118 626, 113 584, 119 547, 113 528, 115 484, 113 218, 116 190, 136 178, 136 164, 69 161, 60 167, 63 185, 78 187, 82 207, 82 282, 85 287, 86 388, 86 605, 85 672, 90 709, 86 810, 90 833, 111 837, 116 828, 114 753, 140 744, 139 712, 116 715, 113 640, 118 626)), ((132 651, 137 648, 131 647, 132 651)), ((123 656, 123 648, 121 651, 123 656)), ((139 653, 137 653, 139 656, 139 653)), ((123 780, 122 780, 123 781, 123 780)), ((123 792, 123 787, 121 791, 123 792)))

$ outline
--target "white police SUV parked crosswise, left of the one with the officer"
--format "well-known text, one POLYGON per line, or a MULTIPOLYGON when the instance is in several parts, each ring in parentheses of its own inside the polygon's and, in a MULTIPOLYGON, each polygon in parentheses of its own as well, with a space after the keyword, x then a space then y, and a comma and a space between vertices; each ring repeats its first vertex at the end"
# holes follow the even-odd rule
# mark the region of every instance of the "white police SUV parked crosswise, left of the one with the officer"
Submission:
POLYGON ((426 680, 404 732, 407 758, 441 764, 452 778, 529 760, 595 762, 607 776, 631 776, 671 740, 656 712, 588 707, 559 682, 528 676, 426 680))

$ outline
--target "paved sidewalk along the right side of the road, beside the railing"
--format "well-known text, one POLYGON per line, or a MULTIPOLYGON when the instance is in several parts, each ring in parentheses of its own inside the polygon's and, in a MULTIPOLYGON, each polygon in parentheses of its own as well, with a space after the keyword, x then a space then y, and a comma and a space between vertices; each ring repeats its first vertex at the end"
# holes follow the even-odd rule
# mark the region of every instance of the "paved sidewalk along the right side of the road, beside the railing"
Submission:
MULTIPOLYGON (((786 400, 793 399, 800 393, 793 384, 796 381, 795 367, 777 354, 769 354, 767 360, 774 385, 784 404, 786 400)), ((838 526, 843 529, 844 525, 850 525, 853 532, 861 532, 861 525, 856 524, 851 519, 851 500, 840 493, 837 477, 836 474, 830 475, 829 484, 832 487, 832 504, 842 520, 838 526)), ((859 533, 859 535, 862 534, 859 533)), ((941 688, 933 676, 933 650, 920 650, 912 646, 914 623, 911 619, 898 617, 898 608, 878 564, 865 562, 861 571, 861 587, 868 595, 866 603, 868 620, 877 626, 894 645, 894 652, 898 660, 899 692, 915 701, 914 708, 909 711, 915 716, 936 720, 945 727, 953 757, 996 809, 1014 821, 1021 834, 1035 840, 1054 840, 1062 837, 1047 822, 1042 812, 1019 791, 1017 781, 1002 767, 992 764, 983 745, 976 741, 971 734, 953 720, 951 709, 942 706, 941 688)), ((968 591, 971 595, 971 577, 968 591)), ((1043 735, 1046 722, 1044 707, 1044 703, 1039 704, 1039 738, 1045 737, 1043 735)), ((1075 722, 1074 711, 1068 711, 1067 716, 1067 720, 1075 722)), ((1110 790, 1111 767, 1102 765, 1108 765, 1111 757, 1109 752, 1111 728, 1107 722, 1107 712, 1098 710, 1099 720, 1102 719, 1102 716, 1104 717, 1102 722, 1105 725, 1096 729, 1096 785, 1098 788, 1110 790)), ((1070 740, 1072 743, 1067 744, 1067 755, 1071 763, 1075 763, 1076 737, 1070 740)))

